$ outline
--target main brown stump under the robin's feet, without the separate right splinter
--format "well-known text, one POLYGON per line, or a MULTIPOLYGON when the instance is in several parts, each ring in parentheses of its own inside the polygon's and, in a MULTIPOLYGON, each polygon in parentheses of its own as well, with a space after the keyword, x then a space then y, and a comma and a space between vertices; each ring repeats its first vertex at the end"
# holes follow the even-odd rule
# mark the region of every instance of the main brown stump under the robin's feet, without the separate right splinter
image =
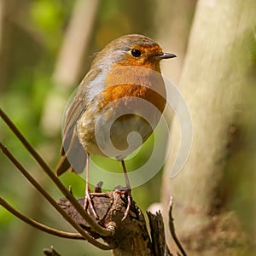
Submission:
MULTIPOLYGON (((143 212, 134 201, 130 214, 123 221, 122 218, 127 204, 125 195, 120 195, 117 191, 108 191, 102 196, 93 196, 92 201, 102 225, 113 226, 115 230, 114 236, 101 236, 104 241, 114 248, 113 255, 154 255, 143 212)), ((84 198, 79 199, 79 203, 83 205, 84 198)), ((90 229, 90 225, 81 218, 71 202, 63 198, 59 201, 59 204, 91 236, 99 237, 90 229)))

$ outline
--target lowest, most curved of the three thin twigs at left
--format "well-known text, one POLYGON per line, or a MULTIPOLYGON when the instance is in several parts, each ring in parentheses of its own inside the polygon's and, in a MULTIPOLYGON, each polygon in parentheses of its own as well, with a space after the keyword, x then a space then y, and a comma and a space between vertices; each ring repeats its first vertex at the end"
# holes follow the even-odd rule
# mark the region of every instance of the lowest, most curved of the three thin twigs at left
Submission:
POLYGON ((32 218, 26 217, 22 213, 15 210, 14 207, 10 206, 9 203, 7 201, 5 201, 2 197, 0 197, 0 205, 3 206, 9 212, 11 212, 13 215, 15 215, 17 218, 20 218, 21 220, 26 222, 26 224, 30 224, 32 227, 34 227, 38 230, 42 230, 51 235, 59 236, 59 237, 63 237, 63 238, 84 240, 84 236, 81 236, 79 233, 70 233, 70 232, 65 232, 62 230, 55 230, 53 228, 50 228, 49 226, 38 223, 37 221, 33 220, 32 218))

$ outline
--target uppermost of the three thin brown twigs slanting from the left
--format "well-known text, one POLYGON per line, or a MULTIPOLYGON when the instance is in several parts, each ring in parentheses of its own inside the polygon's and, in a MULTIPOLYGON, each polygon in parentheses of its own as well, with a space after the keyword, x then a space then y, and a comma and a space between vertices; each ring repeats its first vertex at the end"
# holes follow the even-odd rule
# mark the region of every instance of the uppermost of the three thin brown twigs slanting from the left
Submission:
POLYGON ((51 171, 47 163, 43 158, 38 154, 38 152, 32 147, 30 143, 27 142, 26 138, 20 133, 19 129, 15 124, 9 119, 6 113, 3 112, 3 109, 0 108, 0 116, 3 118, 4 122, 9 126, 11 131, 15 133, 15 136, 18 137, 20 143, 28 150, 32 157, 37 160, 39 166, 42 167, 44 172, 50 177, 50 179, 55 183, 55 185, 61 190, 62 194, 66 196, 67 200, 73 204, 73 207, 79 212, 79 214, 84 218, 87 224, 90 225, 91 230, 94 230, 97 234, 101 236, 113 236, 112 230, 107 230, 102 228, 99 224, 96 224, 93 218, 84 211, 84 208, 79 204, 76 198, 66 189, 66 187, 61 183, 60 179, 55 176, 55 173, 51 171))

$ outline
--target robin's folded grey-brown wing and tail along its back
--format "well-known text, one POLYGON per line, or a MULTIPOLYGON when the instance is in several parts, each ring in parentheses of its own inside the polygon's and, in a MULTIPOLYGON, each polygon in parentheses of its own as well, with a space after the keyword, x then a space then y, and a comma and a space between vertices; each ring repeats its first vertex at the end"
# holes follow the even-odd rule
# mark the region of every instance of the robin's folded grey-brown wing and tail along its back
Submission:
POLYGON ((83 172, 84 170, 86 153, 81 143, 79 143, 76 124, 90 102, 88 86, 90 86, 92 81, 95 81, 100 73, 100 69, 93 69, 87 73, 81 84, 79 84, 76 96, 67 108, 63 127, 61 160, 56 167, 57 176, 66 172, 70 167, 72 167, 75 172, 83 172))

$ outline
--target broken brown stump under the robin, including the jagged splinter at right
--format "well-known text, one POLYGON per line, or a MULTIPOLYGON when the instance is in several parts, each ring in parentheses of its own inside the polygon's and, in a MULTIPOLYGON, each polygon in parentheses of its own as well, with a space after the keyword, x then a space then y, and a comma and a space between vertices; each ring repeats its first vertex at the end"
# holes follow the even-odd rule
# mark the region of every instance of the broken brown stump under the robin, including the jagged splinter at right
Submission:
MULTIPOLYGON (((99 236, 95 231, 91 230, 90 225, 84 221, 84 218, 79 215, 66 198, 60 199, 58 203, 73 220, 89 232, 90 236, 95 239, 101 237, 108 245, 113 247, 113 255, 115 256, 172 256, 166 246, 165 228, 160 212, 156 214, 148 212, 151 230, 150 239, 143 212, 134 201, 128 216, 122 219, 127 203, 125 195, 120 195, 117 191, 109 191, 94 196, 92 200, 99 219, 96 220, 89 208, 90 216, 102 227, 113 226, 113 236, 99 236)), ((80 198, 79 203, 84 206, 84 198, 80 198)))

